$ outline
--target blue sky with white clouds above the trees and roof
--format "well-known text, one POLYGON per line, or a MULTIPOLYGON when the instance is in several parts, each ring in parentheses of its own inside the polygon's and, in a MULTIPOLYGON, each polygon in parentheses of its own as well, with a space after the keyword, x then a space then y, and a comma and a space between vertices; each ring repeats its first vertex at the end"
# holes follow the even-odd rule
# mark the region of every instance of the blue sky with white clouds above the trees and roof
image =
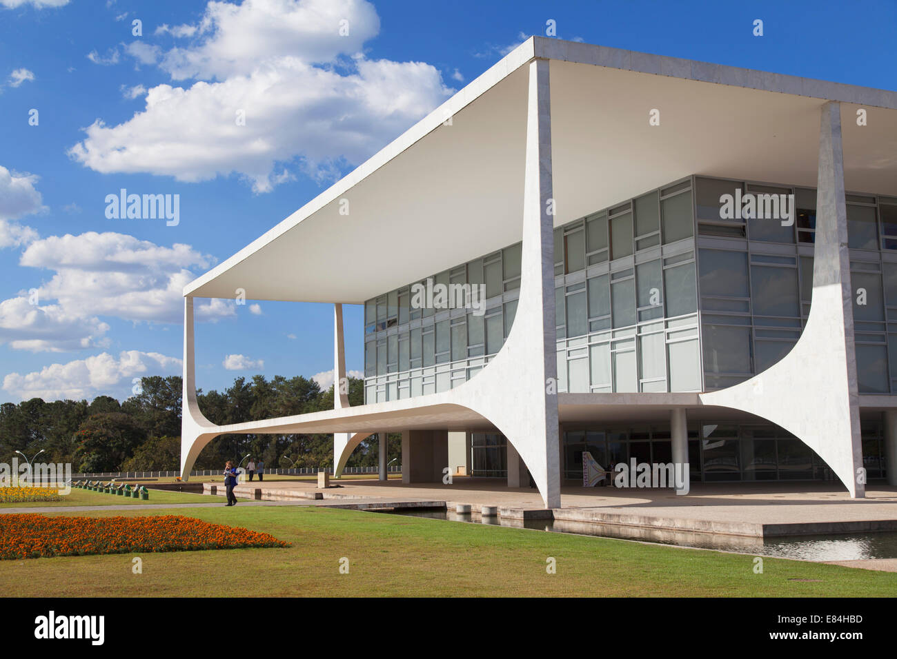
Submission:
MULTIPOLYGON (((0 0, 0 402, 179 373, 184 283, 549 20, 562 39, 897 90, 893 1, 0 0), (109 219, 121 188, 179 195, 179 223, 109 219)), ((197 306, 197 386, 328 384, 332 307, 197 306)), ((357 370, 361 308, 345 313, 357 370)))

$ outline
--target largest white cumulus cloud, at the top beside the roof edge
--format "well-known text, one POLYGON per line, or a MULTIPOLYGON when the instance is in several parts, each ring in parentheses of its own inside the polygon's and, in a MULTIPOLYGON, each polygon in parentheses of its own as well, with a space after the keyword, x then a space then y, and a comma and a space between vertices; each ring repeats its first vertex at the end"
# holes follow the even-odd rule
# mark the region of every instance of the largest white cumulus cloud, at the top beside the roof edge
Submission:
POLYGON ((117 126, 98 119, 74 160, 189 182, 237 174, 267 192, 295 171, 321 180, 360 163, 453 91, 431 65, 362 55, 379 18, 361 0, 210 2, 193 27, 186 46, 152 56, 196 82, 149 89, 117 126))

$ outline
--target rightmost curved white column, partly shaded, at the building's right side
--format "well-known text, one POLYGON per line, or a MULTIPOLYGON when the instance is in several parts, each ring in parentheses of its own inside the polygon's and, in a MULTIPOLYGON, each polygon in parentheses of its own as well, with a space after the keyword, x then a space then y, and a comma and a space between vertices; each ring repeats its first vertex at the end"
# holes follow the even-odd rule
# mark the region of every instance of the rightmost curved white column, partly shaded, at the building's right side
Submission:
POLYGON ((857 478, 863 459, 839 103, 826 103, 820 122, 806 328, 782 360, 739 385, 701 395, 701 402, 744 410, 787 429, 823 458, 851 497, 865 496, 857 478))

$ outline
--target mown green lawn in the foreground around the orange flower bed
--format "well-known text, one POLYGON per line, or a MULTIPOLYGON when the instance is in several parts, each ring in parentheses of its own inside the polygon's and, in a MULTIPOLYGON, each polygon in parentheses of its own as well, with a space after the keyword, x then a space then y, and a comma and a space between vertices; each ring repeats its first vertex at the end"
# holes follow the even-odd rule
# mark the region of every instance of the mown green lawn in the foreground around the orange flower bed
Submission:
MULTIPOLYGON (((183 514, 97 511, 89 516, 183 514)), ((0 588, 29 596, 890 596, 897 574, 321 507, 204 507, 189 516, 292 542, 283 549, 0 561, 0 588), (132 573, 132 558, 143 574, 132 573), (349 559, 349 574, 339 561, 349 559), (547 574, 546 559, 556 559, 547 574), (250 575, 251 578, 247 576, 250 575), (795 581, 813 579, 814 581, 795 581), (818 580, 818 581, 815 581, 818 580), (22 594, 26 594, 22 592, 22 594)))

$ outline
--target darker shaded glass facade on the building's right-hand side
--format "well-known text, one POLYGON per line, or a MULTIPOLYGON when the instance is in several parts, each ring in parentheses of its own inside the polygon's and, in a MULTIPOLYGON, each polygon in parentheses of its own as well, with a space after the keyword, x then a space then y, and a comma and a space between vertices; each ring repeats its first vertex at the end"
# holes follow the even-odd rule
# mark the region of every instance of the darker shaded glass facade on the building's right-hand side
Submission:
MULTIPOLYGON (((813 291, 816 191, 702 177, 694 185, 709 391, 768 369, 797 343, 813 291), (794 195, 795 222, 720 219, 720 195, 794 195)), ((897 394, 897 199, 848 194, 847 218, 859 392, 897 394)))

